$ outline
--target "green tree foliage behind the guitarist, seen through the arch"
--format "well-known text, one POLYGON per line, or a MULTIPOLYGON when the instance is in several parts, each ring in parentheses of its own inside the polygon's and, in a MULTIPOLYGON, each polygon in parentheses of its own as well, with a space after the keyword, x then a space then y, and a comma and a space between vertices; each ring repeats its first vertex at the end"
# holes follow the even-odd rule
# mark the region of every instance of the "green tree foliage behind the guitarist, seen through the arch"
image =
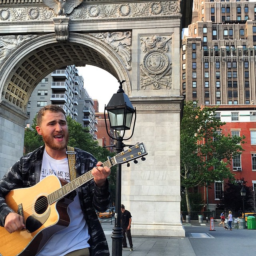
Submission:
MULTIPOLYGON (((82 127, 82 125, 74 120, 70 116, 67 116, 69 140, 68 145, 71 147, 80 148, 87 152, 90 152, 98 161, 106 162, 107 157, 113 157, 115 153, 110 152, 106 148, 99 146, 98 141, 92 138, 92 135, 88 132, 88 128, 82 127)), ((36 131, 36 117, 33 119, 32 129, 26 128, 24 134, 24 149, 25 154, 35 150, 36 148, 44 145, 42 136, 36 131)), ((108 177, 110 184, 110 190, 112 194, 112 200, 115 199, 116 194, 116 167, 111 168, 111 175, 108 177)))

